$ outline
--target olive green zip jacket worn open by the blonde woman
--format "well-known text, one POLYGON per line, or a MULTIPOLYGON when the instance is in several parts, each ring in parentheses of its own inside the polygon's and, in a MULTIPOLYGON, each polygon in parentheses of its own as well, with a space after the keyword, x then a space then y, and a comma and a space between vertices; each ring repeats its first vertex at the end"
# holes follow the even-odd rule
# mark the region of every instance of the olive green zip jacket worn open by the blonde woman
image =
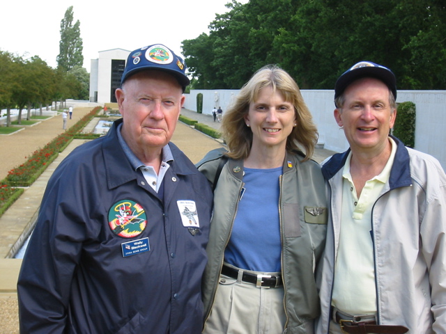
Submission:
MULTIPOLYGON (((197 167, 213 184, 224 154, 210 151, 197 167)), ((279 217, 282 238, 282 279, 284 281, 284 333, 312 333, 319 302, 314 272, 325 246, 327 203, 321 168, 315 161, 302 162, 298 152, 287 153, 280 177, 279 217)), ((231 237, 240 191, 243 161, 229 159, 214 192, 214 214, 207 247, 208 265, 203 276, 205 321, 213 307, 224 249, 231 237)), ((259 202, 261 205, 261 202, 259 202)))

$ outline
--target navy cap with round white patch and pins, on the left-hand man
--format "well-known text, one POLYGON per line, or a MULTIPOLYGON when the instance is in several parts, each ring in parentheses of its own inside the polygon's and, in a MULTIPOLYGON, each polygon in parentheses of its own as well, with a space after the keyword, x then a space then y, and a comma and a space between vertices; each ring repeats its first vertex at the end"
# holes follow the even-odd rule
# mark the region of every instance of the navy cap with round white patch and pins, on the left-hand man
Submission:
POLYGON ((183 58, 162 44, 149 45, 130 52, 121 77, 121 86, 130 76, 143 70, 168 72, 176 77, 180 86, 183 87, 183 92, 190 84, 190 80, 185 74, 186 64, 183 58))

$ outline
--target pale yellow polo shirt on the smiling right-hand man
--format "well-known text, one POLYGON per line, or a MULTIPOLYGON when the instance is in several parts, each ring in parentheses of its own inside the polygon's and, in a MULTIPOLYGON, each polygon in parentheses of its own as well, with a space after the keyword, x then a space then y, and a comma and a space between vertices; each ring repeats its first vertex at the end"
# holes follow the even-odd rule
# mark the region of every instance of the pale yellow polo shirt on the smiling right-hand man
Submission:
POLYGON ((368 180, 360 198, 350 173, 351 152, 342 177, 341 231, 334 264, 332 305, 350 315, 376 314, 374 249, 371 237, 371 209, 389 180, 397 144, 389 137, 392 153, 383 171, 368 180))

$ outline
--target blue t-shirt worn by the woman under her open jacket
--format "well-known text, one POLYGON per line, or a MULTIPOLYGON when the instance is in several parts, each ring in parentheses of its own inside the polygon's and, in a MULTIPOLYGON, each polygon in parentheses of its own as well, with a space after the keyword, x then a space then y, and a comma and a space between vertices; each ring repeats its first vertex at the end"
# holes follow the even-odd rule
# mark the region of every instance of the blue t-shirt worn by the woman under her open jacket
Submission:
POLYGON ((224 251, 229 264, 252 271, 280 271, 280 175, 282 167, 245 168, 243 195, 224 251))

